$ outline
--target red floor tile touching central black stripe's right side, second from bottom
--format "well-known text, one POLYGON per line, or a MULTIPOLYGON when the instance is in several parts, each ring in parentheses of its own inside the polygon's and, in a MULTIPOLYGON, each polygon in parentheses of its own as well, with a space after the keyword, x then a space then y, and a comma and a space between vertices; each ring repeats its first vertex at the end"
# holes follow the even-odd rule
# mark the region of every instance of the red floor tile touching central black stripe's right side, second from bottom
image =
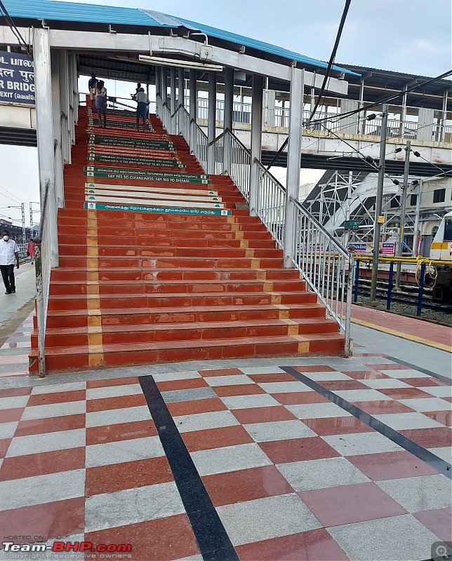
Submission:
POLYGON ((202 480, 214 506, 293 493, 292 487, 275 466, 206 475, 202 480))

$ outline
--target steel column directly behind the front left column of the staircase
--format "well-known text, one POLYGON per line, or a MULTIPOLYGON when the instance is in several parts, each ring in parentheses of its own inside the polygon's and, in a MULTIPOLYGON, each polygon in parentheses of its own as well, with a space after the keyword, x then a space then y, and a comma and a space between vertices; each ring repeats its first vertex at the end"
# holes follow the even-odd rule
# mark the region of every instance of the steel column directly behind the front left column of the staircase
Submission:
POLYGON ((51 52, 53 142, 55 143, 55 199, 57 206, 62 208, 65 203, 62 183, 62 168, 64 164, 61 141, 62 114, 60 107, 60 55, 62 55, 62 53, 58 50, 53 50, 53 52, 51 52))

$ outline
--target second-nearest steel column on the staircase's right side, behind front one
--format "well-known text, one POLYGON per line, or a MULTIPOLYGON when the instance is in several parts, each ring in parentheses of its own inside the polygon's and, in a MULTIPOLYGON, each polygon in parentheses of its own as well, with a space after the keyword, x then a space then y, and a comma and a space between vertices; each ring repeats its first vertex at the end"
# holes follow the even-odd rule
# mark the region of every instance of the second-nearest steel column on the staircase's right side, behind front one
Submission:
POLYGON ((264 79, 258 74, 253 76, 253 96, 251 102, 251 166, 250 166, 250 215, 258 214, 258 165, 255 160, 260 161, 262 150, 262 108, 264 95, 264 79))

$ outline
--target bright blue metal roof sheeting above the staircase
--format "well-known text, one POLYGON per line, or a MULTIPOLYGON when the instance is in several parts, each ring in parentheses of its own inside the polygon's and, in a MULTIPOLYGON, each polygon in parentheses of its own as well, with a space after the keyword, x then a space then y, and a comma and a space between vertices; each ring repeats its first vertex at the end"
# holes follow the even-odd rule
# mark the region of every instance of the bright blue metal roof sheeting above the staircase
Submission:
MULTIPOLYGON (((187 27, 188 29, 197 29, 208 36, 215 39, 222 39, 230 43, 237 43, 239 46, 245 46, 260 50, 263 53, 279 56, 288 60, 296 60, 304 62, 318 68, 326 68, 328 65, 322 60, 293 53, 291 50, 251 39, 235 33, 223 31, 216 27, 210 27, 183 18, 178 18, 165 13, 139 10, 136 8, 118 8, 116 6, 98 6, 97 4, 75 4, 73 2, 60 2, 53 0, 4 0, 6 9, 11 18, 27 18, 31 20, 58 20, 67 22, 87 22, 87 23, 105 23, 112 25, 141 25, 144 27, 187 27)), ((354 74, 355 72, 333 66, 333 69, 345 74, 354 74)))

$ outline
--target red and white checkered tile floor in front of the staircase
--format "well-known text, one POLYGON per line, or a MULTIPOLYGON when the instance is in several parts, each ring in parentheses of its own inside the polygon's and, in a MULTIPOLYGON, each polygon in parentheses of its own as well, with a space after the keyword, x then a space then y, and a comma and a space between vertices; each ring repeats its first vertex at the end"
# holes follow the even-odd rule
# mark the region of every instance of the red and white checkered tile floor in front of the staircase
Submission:
MULTIPOLYGON (((451 386, 364 350, 281 366, 450 463, 451 386)), ((451 540, 445 475, 260 363, 153 374, 241 561, 426 560, 451 540)), ((133 561, 201 560, 138 377, 102 374, 0 391, 3 534, 131 543, 133 561)))

